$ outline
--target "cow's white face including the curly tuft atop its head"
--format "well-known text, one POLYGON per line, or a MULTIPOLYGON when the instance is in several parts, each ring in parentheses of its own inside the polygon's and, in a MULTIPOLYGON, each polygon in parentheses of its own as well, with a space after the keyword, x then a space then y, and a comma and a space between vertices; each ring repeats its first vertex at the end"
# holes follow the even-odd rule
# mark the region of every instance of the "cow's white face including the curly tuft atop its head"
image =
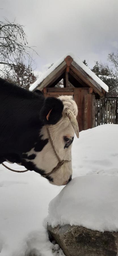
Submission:
MULTIPOLYGON (((37 168, 45 170, 45 174, 49 174, 49 181, 54 185, 66 185, 71 180, 72 163, 71 163, 71 147, 74 139, 74 129, 68 116, 65 114, 67 105, 73 111, 75 117, 77 116, 77 105, 71 96, 60 96, 63 101, 64 110, 62 118, 55 125, 49 125, 50 135, 54 144, 54 148, 61 160, 68 160, 58 170, 49 174, 59 162, 52 144, 49 139, 47 127, 43 126, 39 135, 41 139, 49 139, 49 142, 44 146, 41 152, 35 152, 36 157, 32 162, 37 168)), ((34 152, 29 152, 29 154, 34 152)))

